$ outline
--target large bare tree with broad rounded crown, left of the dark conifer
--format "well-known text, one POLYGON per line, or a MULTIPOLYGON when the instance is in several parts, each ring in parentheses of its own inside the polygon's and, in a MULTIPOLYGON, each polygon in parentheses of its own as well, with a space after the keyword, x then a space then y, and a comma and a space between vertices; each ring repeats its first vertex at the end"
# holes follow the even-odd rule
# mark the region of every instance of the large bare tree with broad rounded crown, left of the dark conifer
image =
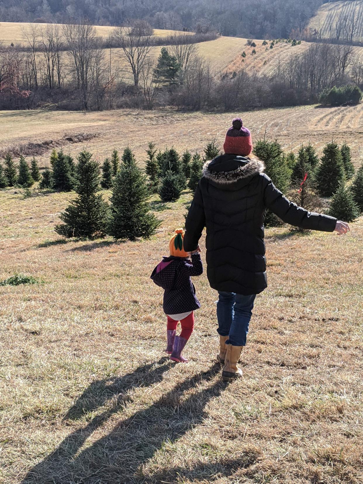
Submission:
POLYGON ((113 39, 121 48, 120 58, 131 68, 137 88, 140 73, 151 51, 151 33, 145 32, 137 22, 128 22, 127 27, 116 27, 113 39))

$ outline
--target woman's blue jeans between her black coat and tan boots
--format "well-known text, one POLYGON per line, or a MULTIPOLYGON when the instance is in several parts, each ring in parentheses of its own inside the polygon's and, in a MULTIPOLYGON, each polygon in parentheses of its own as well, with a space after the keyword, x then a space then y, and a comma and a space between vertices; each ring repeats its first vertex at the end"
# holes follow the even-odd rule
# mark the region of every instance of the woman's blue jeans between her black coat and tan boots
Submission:
POLYGON ((229 336, 227 344, 245 346, 256 294, 243 296, 234 292, 218 293, 217 332, 221 336, 229 336))

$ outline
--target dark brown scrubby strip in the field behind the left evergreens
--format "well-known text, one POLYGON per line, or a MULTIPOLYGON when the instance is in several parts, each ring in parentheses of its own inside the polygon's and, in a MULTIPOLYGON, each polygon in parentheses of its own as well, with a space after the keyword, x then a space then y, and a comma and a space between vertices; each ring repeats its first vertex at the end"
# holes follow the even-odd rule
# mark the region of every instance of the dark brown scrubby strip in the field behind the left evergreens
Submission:
POLYGON ((60 139, 45 139, 34 143, 29 141, 28 143, 21 143, 18 145, 10 145, 4 150, 0 151, 0 157, 4 158, 6 153, 10 153, 13 156, 39 156, 44 154, 48 150, 53 148, 59 148, 69 144, 83 143, 99 136, 96 133, 77 133, 73 135, 64 135, 60 139))

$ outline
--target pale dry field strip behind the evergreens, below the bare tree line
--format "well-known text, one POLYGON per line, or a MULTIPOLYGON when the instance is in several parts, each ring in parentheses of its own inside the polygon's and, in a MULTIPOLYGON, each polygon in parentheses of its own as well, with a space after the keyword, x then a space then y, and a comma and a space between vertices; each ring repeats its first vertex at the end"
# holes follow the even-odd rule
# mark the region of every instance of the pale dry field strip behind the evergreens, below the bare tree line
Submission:
MULTIPOLYGON (((74 111, 2 111, 0 156, 8 150, 22 151, 37 155, 41 165, 45 166, 50 149, 62 146, 73 155, 87 148, 102 161, 114 147, 121 150, 129 144, 142 162, 150 140, 161 148, 174 145, 179 151, 186 148, 200 151, 215 136, 222 147, 225 132, 236 114, 185 113, 167 109, 85 114, 74 111), (77 134, 85 134, 90 139, 79 143, 65 140, 65 137, 77 134)), ((321 153, 322 146, 334 137, 339 143, 348 142, 356 166, 363 161, 362 104, 328 108, 300 106, 241 114, 253 139, 263 137, 266 130, 266 136, 270 139, 277 136, 286 150, 296 152, 301 143, 311 141, 321 153)))

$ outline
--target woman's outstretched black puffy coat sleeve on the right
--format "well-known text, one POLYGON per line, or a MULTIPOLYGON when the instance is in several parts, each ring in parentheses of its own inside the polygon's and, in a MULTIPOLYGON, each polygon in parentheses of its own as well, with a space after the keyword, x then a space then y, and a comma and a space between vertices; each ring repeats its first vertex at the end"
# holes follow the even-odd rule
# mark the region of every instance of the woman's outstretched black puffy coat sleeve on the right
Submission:
POLYGON ((290 202, 277 190, 269 177, 264 176, 263 201, 266 208, 281 218, 287 224, 310 230, 333 232, 336 226, 336 218, 323 213, 308 212, 295 203, 290 202))

